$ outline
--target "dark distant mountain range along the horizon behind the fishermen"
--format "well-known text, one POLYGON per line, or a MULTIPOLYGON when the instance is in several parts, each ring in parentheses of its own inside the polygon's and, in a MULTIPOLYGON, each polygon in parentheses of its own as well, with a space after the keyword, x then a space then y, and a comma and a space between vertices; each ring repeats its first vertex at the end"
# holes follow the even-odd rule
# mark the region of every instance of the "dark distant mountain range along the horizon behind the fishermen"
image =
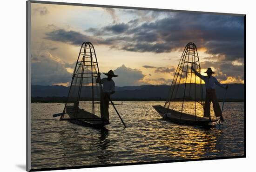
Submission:
MULTIPOLYGON (((183 87, 184 84, 180 85, 183 87)), ((199 85, 196 85, 196 95, 199 95, 201 91, 198 89, 199 85)), ((90 86, 87 89, 90 90, 90 86)), ((195 88, 195 87, 194 87, 195 88)), ((38 86, 33 85, 31 88, 32 91, 32 101, 36 102, 37 100, 44 99, 47 101, 51 99, 57 99, 57 97, 62 97, 64 101, 64 97, 67 97, 69 87, 66 86, 38 86)), ((115 87, 115 94, 111 96, 113 100, 154 100, 154 101, 165 101, 168 92, 170 90, 170 86, 168 85, 144 85, 144 86, 116 86, 115 87)), ((193 89, 193 85, 191 85, 191 90, 193 89)), ((205 88, 203 85, 203 95, 205 95, 205 88)), ((91 93, 90 91, 88 91, 91 93)), ((189 92, 189 86, 186 87, 186 94, 189 92)), ((178 92, 176 97, 182 97, 184 92, 178 92)), ((221 100, 224 97, 225 90, 220 87, 216 87, 216 93, 218 98, 221 100)), ((194 95, 194 94, 192 94, 194 95)), ((83 95, 87 97, 86 94, 83 95)), ((227 91, 226 96, 227 101, 243 101, 244 100, 244 84, 229 84, 229 89, 227 91)))

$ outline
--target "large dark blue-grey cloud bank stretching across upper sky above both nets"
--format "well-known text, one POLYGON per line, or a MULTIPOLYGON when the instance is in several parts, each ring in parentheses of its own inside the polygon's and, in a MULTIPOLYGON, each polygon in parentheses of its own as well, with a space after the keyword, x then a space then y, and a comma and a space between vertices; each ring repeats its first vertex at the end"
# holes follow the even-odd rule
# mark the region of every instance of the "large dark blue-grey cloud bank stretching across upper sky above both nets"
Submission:
MULTIPOLYGON (((115 23, 86 30, 94 37, 75 31, 58 29, 47 34, 47 39, 80 45, 82 40, 94 40, 94 44, 131 52, 168 53, 182 51, 190 41, 206 53, 223 55, 221 60, 243 58, 243 17, 198 13, 167 13, 156 20, 159 12, 126 10, 137 18, 128 23, 115 23), (141 21, 141 16, 153 16, 155 20, 141 21), (150 15, 149 15, 150 14, 150 15), (172 14, 172 15, 168 15, 172 14), (101 37, 99 37, 101 36, 101 37)), ((200 54, 199 54, 200 55, 200 54)))

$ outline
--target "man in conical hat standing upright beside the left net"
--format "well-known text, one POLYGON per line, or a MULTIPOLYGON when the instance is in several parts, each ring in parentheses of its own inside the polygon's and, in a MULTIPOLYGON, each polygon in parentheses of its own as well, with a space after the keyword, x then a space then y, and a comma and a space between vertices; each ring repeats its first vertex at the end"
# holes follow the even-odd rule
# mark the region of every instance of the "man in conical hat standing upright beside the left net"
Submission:
POLYGON ((115 75, 112 70, 108 71, 108 73, 104 73, 107 75, 107 78, 100 79, 101 73, 98 73, 98 77, 96 79, 96 83, 102 84, 102 93, 101 93, 101 119, 104 120, 105 124, 109 124, 109 114, 108 114, 108 105, 110 95, 115 93, 115 82, 112 80, 112 77, 118 77, 115 75))

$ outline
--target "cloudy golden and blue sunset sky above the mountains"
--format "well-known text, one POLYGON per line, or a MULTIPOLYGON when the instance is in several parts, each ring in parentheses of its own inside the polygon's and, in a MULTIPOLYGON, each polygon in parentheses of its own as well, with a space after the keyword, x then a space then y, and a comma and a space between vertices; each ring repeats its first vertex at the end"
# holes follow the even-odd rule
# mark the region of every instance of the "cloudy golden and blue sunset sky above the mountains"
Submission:
POLYGON ((188 42, 202 71, 243 83, 243 16, 32 3, 32 85, 68 86, 81 44, 93 43, 116 86, 170 85, 188 42))

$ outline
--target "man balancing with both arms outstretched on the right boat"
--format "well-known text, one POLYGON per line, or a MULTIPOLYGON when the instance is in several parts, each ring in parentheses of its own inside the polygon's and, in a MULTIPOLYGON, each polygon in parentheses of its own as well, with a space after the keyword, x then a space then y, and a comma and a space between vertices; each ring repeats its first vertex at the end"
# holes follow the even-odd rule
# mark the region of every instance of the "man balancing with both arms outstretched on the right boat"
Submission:
POLYGON ((191 66, 191 69, 205 83, 206 97, 205 97, 204 108, 203 108, 203 111, 204 111, 203 112, 203 117, 209 118, 209 120, 211 120, 210 105, 211 105, 211 101, 212 101, 215 116, 216 117, 220 116, 221 120, 223 121, 222 111, 221 111, 221 107, 219 105, 219 102, 218 102, 218 99, 217 99, 217 96, 216 96, 215 86, 217 85, 217 86, 220 86, 224 89, 228 89, 228 85, 223 86, 215 77, 213 77, 212 74, 214 72, 212 72, 211 68, 208 68, 207 71, 205 72, 205 73, 207 73, 207 76, 203 76, 200 73, 198 73, 197 71, 195 71, 193 66, 191 66))

